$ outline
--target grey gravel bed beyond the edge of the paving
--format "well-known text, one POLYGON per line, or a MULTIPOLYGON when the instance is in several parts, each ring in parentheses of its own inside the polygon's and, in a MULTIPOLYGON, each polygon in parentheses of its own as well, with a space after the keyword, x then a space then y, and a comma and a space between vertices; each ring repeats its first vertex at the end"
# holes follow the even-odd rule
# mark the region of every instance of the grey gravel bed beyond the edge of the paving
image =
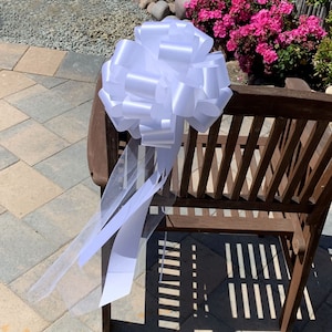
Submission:
POLYGON ((148 20, 134 0, 0 0, 0 42, 108 58, 148 20))

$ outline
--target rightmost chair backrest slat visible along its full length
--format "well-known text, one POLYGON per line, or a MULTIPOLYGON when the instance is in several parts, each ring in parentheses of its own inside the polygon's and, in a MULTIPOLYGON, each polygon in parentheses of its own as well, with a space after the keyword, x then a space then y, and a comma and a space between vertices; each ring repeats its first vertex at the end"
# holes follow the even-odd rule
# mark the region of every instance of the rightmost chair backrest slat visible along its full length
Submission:
POLYGON ((309 164, 328 125, 329 125, 329 122, 323 121, 323 122, 317 123, 315 126, 312 128, 310 136, 308 137, 307 144, 305 144, 305 146, 303 146, 303 149, 300 153, 297 165, 294 166, 293 172, 291 172, 291 174, 289 175, 289 181, 288 181, 288 185, 282 195, 282 201, 289 203, 291 200, 292 196, 294 196, 294 191, 295 191, 300 180, 302 179, 303 175, 307 172, 307 168, 303 166, 309 164))

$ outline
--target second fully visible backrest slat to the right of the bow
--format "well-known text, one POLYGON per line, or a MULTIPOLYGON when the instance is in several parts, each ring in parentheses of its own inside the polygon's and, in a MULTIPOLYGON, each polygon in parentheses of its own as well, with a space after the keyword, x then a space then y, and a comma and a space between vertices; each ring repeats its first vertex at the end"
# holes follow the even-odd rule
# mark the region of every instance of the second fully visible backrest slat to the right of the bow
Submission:
POLYGON ((257 147, 257 141, 259 138, 260 131, 261 131, 263 123, 264 123, 263 116, 255 116, 251 127, 250 127, 250 133, 248 136, 243 156, 241 158, 241 164, 239 165, 239 170, 238 170, 237 177, 235 179, 235 186, 232 188, 231 199, 238 199, 240 196, 240 191, 241 191, 243 181, 246 179, 246 175, 247 175, 248 168, 250 166, 250 162, 251 162, 253 152, 257 147))

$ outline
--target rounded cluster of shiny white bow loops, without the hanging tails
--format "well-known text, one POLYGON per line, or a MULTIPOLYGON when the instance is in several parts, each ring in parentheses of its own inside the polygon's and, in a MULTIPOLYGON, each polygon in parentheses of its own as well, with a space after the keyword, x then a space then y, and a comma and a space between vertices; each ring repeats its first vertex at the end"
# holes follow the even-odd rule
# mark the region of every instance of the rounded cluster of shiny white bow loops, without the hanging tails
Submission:
POLYGON ((100 97, 118 132, 142 144, 172 147, 177 116, 205 132, 231 93, 225 59, 191 23, 166 19, 135 30, 103 65, 100 97))

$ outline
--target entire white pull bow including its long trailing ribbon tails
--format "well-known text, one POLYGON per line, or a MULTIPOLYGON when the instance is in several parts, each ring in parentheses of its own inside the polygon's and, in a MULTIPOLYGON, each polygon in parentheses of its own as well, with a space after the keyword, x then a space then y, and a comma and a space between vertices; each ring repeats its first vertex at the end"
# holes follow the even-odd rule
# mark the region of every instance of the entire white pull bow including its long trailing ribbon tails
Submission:
MULTIPOLYGON (((100 305, 131 292, 148 208, 178 155, 184 121, 206 132, 231 97, 224 55, 209 53, 211 46, 212 39, 190 22, 173 19, 146 22, 135 29, 135 41, 118 42, 103 65, 100 97, 116 129, 128 131, 142 145, 132 139, 126 146, 104 190, 101 211, 32 287, 32 300, 59 290, 60 280, 72 270, 75 276, 85 273, 85 264, 115 234, 100 305), (148 170, 152 175, 145 179, 148 170)), ((159 220, 160 216, 151 230, 159 220)), ((60 292, 74 313, 96 308, 92 298, 97 298, 97 286, 76 291, 80 280, 72 289, 68 282, 60 292)))

